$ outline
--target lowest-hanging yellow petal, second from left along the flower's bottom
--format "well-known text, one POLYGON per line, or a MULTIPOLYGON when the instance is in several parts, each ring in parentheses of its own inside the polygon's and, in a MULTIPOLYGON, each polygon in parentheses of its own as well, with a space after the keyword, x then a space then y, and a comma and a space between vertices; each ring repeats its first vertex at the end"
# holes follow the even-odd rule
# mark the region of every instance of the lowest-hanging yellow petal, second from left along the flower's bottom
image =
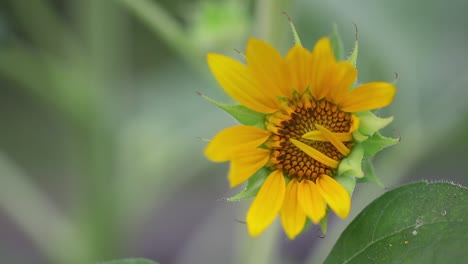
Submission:
POLYGON ((298 201, 298 185, 299 183, 295 179, 289 182, 280 212, 284 231, 291 240, 304 229, 306 222, 305 212, 298 201))

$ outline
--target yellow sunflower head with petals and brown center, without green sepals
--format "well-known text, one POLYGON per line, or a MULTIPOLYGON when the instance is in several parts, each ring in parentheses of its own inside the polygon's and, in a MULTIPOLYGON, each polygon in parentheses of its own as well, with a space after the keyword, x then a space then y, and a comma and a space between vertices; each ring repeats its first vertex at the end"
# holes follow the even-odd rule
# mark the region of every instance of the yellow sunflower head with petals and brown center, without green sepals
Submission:
POLYGON ((278 213, 284 230, 294 239, 306 218, 318 223, 327 205, 348 216, 351 201, 334 179, 340 162, 355 143, 359 129, 355 112, 389 105, 395 87, 372 82, 350 89, 357 70, 337 62, 330 40, 320 39, 312 52, 300 45, 282 57, 272 46, 250 39, 246 64, 208 54, 216 80, 241 105, 265 114, 264 129, 239 125, 217 134, 205 155, 230 161, 231 187, 246 181, 262 167, 271 169, 247 213, 252 236, 262 233, 278 213))

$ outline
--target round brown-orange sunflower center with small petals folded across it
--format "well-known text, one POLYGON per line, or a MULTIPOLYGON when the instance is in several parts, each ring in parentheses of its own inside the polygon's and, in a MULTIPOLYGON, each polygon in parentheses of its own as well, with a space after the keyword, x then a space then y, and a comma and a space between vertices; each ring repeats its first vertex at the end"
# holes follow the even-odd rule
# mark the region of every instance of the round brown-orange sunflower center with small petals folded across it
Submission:
POLYGON ((325 99, 316 100, 307 92, 296 96, 267 118, 271 166, 298 180, 332 176, 349 153, 351 123, 350 113, 325 99))

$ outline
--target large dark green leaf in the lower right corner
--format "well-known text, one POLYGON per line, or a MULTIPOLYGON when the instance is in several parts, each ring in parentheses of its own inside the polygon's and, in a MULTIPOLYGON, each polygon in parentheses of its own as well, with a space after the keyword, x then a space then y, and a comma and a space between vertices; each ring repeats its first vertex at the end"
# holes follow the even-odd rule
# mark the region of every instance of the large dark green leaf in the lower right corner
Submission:
POLYGON ((468 189, 419 182, 385 193, 341 234, 325 263, 461 263, 468 189))

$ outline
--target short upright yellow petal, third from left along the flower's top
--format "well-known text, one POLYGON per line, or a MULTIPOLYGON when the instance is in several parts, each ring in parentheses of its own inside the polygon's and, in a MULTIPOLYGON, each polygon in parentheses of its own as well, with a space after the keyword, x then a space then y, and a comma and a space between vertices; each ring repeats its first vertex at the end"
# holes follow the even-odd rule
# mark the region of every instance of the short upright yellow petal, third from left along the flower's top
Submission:
POLYGON ((312 54, 299 45, 295 45, 286 55, 291 87, 296 89, 299 94, 304 93, 309 87, 311 60, 312 54))

